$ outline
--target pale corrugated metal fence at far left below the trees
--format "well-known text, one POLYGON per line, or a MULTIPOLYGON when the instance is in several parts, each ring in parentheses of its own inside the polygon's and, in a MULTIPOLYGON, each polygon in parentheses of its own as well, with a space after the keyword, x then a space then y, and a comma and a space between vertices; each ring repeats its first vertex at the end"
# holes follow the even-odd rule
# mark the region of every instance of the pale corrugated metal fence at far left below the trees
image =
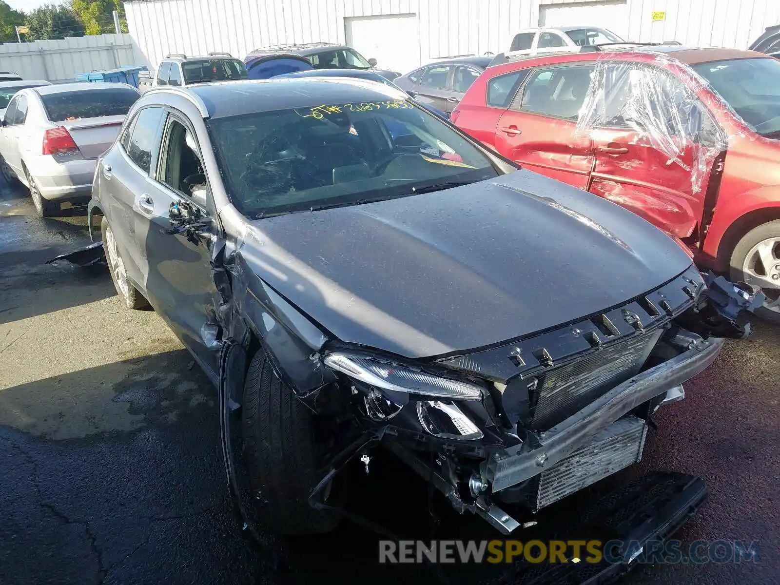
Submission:
POLYGON ((129 34, 101 34, 0 46, 0 70, 19 73, 27 80, 62 83, 73 81, 77 73, 146 64, 144 58, 133 51, 133 37, 129 34))

